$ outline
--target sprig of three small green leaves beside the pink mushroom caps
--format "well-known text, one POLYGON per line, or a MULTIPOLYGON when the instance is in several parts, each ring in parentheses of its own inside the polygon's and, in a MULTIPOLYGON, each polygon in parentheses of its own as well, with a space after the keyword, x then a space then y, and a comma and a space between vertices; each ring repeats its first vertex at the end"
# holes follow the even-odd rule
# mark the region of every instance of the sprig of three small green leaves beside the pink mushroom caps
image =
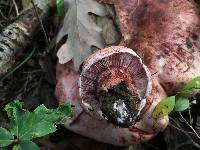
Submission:
POLYGON ((194 89, 200 89, 200 77, 196 77, 186 83, 183 88, 175 95, 162 100, 155 107, 152 117, 162 118, 171 112, 181 112, 189 108, 189 97, 192 96, 194 89))

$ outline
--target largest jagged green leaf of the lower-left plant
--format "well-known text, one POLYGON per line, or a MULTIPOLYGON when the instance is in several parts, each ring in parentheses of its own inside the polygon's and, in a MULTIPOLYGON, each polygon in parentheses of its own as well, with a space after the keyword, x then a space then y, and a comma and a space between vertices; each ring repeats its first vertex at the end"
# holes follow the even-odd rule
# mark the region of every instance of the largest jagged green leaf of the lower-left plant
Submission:
POLYGON ((40 105, 33 112, 25 111, 18 100, 6 105, 5 110, 14 120, 9 130, 20 140, 31 140, 55 132, 56 125, 64 124, 67 117, 73 114, 69 104, 62 104, 56 109, 40 105))

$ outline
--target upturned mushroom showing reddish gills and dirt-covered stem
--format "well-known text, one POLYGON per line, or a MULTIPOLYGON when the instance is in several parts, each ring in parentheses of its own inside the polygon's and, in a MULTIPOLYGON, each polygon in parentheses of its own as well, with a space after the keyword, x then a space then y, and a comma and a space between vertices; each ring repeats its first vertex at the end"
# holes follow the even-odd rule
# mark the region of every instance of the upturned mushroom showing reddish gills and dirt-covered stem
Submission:
POLYGON ((150 91, 149 70, 132 49, 123 46, 105 48, 91 55, 79 78, 84 110, 120 127, 137 122, 150 91))

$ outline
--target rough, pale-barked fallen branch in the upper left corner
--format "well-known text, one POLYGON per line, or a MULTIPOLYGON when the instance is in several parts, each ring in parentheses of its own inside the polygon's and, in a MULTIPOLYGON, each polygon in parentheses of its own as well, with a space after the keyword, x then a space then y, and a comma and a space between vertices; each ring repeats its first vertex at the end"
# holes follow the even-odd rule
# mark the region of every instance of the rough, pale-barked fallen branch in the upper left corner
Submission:
MULTIPOLYGON (((53 0, 46 0, 46 6, 42 9, 36 6, 41 20, 46 18, 53 4, 53 0)), ((34 8, 29 8, 2 31, 0 34, 0 75, 12 67, 17 53, 31 43, 31 39, 39 31, 38 29, 39 21, 34 8)))

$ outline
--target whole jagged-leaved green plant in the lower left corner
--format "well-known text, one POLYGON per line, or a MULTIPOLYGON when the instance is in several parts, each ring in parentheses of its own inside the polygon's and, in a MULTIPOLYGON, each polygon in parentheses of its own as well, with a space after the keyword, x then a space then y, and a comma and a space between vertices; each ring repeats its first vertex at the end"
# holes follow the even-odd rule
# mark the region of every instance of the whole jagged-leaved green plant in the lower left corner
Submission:
POLYGON ((56 125, 64 124, 67 117, 73 114, 67 103, 56 109, 40 105, 32 112, 23 109, 22 105, 22 102, 15 100, 5 106, 10 125, 7 129, 0 128, 0 147, 12 144, 13 150, 39 150, 31 140, 55 132, 56 125))

